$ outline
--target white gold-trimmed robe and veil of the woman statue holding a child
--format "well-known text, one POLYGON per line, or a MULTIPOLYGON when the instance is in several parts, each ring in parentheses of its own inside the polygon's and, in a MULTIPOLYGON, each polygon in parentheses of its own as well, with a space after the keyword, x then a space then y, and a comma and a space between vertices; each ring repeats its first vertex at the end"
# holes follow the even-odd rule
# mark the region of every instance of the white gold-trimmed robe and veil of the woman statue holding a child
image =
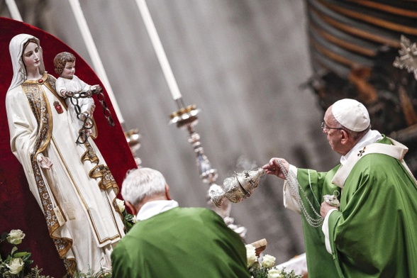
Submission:
MULTIPOLYGON (((15 48, 34 38, 18 36, 15 48)), ((23 49, 15 50, 13 58, 12 47, 11 43, 16 74, 16 59, 23 49)), ((87 144, 75 143, 77 136, 55 91, 54 77, 43 73, 43 79, 13 86, 12 82, 6 94, 11 150, 23 166, 60 257, 71 274, 109 269, 111 250, 124 232, 121 213, 115 209, 118 187, 104 158, 91 138, 87 144), (49 157, 51 169, 38 165, 40 153, 49 157)))

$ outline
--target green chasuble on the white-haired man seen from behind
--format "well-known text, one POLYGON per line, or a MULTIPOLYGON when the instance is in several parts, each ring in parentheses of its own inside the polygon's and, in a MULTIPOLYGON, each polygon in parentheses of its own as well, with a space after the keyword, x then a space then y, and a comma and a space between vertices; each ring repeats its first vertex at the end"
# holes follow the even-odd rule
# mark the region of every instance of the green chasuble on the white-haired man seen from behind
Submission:
POLYGON ((135 223, 111 260, 115 278, 250 277, 240 236, 206 208, 172 208, 135 223))

